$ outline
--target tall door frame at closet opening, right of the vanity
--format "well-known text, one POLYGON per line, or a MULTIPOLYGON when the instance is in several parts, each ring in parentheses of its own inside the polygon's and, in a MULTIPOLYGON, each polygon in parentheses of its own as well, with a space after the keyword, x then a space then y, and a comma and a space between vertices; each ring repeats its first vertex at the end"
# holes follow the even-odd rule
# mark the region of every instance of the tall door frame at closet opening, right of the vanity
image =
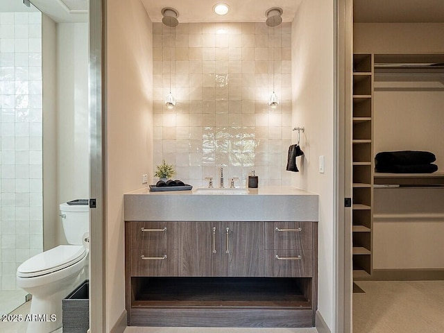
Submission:
POLYGON ((352 55, 353 0, 334 0, 334 137, 336 237, 334 332, 352 332, 352 55))

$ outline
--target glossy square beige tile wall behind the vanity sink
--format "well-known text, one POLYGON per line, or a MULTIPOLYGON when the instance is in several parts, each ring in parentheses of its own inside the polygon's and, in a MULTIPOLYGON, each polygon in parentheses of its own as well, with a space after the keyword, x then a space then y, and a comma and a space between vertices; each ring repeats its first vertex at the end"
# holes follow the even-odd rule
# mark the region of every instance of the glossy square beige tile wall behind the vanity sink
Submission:
POLYGON ((194 186, 205 177, 218 185, 221 165, 225 187, 230 177, 244 185, 252 169, 259 186, 290 183, 290 23, 154 23, 153 86, 154 170, 164 159, 194 186), (170 82, 173 110, 164 105, 170 82))

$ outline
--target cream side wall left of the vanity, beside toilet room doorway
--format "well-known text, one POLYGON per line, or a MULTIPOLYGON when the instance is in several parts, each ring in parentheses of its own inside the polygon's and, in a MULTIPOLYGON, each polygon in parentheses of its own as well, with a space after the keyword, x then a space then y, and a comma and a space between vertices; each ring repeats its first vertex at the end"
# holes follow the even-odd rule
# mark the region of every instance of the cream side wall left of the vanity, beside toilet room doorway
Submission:
MULTIPOLYGON (((106 332, 125 309, 123 194, 153 174, 153 37, 140 0, 108 1, 106 332)), ((144 185, 146 186, 146 185, 144 185)))

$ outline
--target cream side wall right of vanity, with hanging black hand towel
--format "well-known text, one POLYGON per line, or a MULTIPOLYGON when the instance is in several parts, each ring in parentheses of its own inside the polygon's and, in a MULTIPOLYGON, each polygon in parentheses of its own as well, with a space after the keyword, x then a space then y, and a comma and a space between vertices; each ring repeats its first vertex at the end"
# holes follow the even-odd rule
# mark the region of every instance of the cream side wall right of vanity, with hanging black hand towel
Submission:
MULTIPOLYGON (((292 26, 292 126, 305 126, 292 185, 319 194, 318 311, 332 329, 334 292, 334 8, 302 1, 292 26), (325 173, 318 157, 325 156, 325 173)), ((296 142, 293 132, 293 142, 296 142)))

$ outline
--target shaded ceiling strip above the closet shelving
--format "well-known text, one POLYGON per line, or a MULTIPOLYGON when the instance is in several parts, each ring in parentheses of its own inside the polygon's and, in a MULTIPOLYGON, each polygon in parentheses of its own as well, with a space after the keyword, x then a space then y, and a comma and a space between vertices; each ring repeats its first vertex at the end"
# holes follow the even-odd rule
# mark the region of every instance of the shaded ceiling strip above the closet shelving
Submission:
POLYGON ((444 0, 354 0, 356 23, 444 23, 444 0))

